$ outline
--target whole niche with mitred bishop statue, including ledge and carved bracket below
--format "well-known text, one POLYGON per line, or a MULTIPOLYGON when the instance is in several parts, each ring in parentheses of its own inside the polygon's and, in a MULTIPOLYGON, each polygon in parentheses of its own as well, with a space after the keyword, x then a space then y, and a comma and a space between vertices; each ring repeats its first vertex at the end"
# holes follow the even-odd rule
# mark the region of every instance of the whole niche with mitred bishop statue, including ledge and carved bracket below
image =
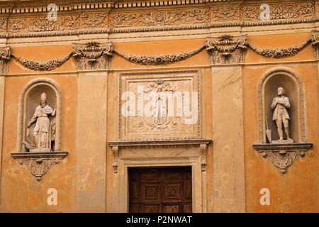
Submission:
POLYGON ((67 156, 61 150, 62 91, 52 79, 34 79, 18 100, 18 152, 11 153, 40 181, 67 156))

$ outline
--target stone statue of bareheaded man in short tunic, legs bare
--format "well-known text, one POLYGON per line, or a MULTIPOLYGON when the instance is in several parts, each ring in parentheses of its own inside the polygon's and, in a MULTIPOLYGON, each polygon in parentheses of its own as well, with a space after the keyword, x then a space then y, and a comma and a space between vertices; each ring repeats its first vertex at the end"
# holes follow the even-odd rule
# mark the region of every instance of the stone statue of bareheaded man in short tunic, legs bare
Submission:
POLYGON ((293 140, 289 136, 289 112, 290 102, 285 95, 284 88, 279 87, 277 89, 277 96, 272 101, 272 109, 274 109, 274 115, 272 121, 276 121, 279 140, 272 140, 272 143, 293 143, 293 140), (286 139, 284 139, 284 131, 282 126, 284 125, 284 131, 286 139))

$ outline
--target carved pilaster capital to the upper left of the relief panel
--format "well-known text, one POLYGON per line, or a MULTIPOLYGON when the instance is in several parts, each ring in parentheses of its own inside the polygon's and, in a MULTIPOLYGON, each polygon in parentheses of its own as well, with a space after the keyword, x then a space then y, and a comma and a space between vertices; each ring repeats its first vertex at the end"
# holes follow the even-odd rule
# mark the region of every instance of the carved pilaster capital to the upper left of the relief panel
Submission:
POLYGON ((73 56, 77 60, 78 70, 105 70, 110 65, 112 56, 112 43, 74 43, 73 56))

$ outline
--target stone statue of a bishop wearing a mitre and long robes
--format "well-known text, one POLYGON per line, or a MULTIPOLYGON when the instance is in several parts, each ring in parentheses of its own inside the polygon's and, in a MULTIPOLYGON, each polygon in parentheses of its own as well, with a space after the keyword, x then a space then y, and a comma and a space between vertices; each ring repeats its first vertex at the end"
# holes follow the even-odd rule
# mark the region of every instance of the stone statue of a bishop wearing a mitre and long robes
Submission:
POLYGON ((55 140, 55 114, 47 104, 47 94, 40 95, 40 105, 35 108, 33 117, 28 121, 26 141, 23 143, 30 152, 47 152, 52 150, 55 140))

